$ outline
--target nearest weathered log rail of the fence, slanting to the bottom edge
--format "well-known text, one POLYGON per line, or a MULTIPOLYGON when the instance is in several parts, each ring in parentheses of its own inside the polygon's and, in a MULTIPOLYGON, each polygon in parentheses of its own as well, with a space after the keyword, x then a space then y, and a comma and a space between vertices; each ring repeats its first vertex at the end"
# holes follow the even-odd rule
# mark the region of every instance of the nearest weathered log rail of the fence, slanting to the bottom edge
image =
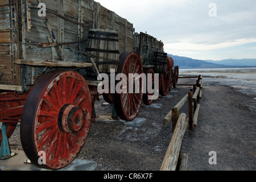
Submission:
POLYGON ((176 170, 181 142, 188 126, 188 119, 186 119, 186 117, 187 115, 185 113, 181 113, 179 116, 174 134, 172 135, 171 142, 167 148, 162 166, 160 167, 160 171, 176 170))

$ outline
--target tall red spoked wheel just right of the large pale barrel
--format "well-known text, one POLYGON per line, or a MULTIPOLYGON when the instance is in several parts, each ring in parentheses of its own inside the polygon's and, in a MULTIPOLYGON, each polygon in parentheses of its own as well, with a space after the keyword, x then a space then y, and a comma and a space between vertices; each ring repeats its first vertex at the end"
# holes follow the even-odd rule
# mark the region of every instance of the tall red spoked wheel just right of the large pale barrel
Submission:
MULTIPOLYGON (((127 80, 122 80, 123 83, 127 85, 127 93, 115 93, 114 94, 114 107, 117 111, 117 115, 119 118, 126 121, 133 121, 139 113, 139 109, 142 104, 142 85, 143 82, 139 78, 139 85, 135 85, 135 81, 133 80, 133 88, 135 86, 139 86, 139 93, 129 93, 129 73, 138 73, 141 75, 143 73, 141 59, 135 52, 124 52, 119 57, 119 65, 117 74, 123 73, 127 77, 127 80)), ((135 78, 136 79, 136 78, 135 78)), ((123 89, 123 88, 121 88, 123 89)))

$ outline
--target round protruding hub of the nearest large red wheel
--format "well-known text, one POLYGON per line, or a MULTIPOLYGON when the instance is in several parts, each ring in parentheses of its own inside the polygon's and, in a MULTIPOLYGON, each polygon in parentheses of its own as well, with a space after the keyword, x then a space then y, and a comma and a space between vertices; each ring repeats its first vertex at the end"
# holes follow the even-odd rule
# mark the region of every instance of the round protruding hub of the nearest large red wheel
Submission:
POLYGON ((84 126, 84 112, 81 107, 65 104, 58 116, 58 126, 62 133, 79 132, 84 126))

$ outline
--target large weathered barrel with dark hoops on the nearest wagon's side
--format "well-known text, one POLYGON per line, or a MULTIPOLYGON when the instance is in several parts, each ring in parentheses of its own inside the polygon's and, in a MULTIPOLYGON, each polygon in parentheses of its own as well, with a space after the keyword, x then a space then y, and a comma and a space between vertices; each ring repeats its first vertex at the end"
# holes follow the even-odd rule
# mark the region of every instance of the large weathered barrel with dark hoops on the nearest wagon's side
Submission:
POLYGON ((92 58, 100 73, 110 74, 110 69, 117 71, 119 62, 118 31, 90 29, 86 51, 92 58))

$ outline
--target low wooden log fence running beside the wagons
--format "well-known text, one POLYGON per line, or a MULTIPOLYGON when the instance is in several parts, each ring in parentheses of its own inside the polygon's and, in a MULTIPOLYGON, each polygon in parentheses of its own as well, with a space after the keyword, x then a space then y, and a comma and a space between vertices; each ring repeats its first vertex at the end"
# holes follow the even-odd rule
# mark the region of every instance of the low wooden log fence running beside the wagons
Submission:
POLYGON ((189 126, 190 131, 193 131, 197 127, 197 118, 200 109, 200 104, 198 103, 202 97, 202 76, 199 75, 199 77, 193 78, 197 78, 197 80, 195 84, 192 84, 190 92, 172 108, 170 113, 162 121, 164 126, 168 126, 172 121, 172 130, 174 133, 172 134, 171 142, 167 148, 160 171, 187 171, 188 155, 181 154, 181 143, 187 127, 189 126), (188 117, 185 113, 179 114, 179 110, 187 101, 188 117))

